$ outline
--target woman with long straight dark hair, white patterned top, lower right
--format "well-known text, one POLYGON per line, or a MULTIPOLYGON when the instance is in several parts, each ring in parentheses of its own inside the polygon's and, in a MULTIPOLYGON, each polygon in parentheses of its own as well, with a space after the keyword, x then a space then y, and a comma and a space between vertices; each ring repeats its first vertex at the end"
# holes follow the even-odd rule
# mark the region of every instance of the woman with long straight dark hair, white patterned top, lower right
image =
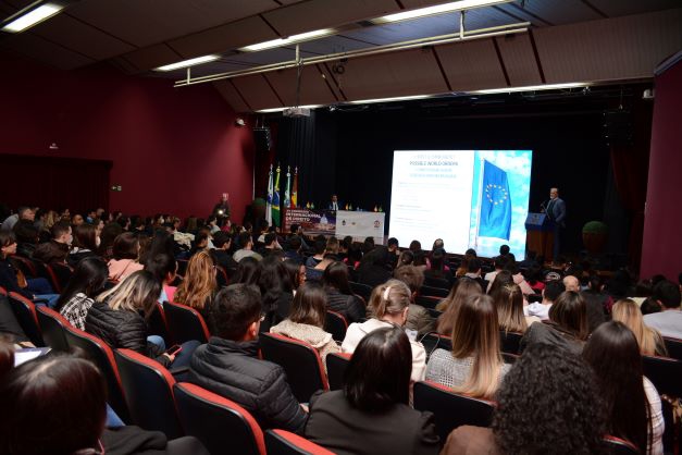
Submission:
POLYGON ((606 402, 608 434, 633 443, 641 453, 664 453, 660 396, 642 372, 637 340, 618 321, 606 322, 587 340, 583 358, 597 374, 606 402))

